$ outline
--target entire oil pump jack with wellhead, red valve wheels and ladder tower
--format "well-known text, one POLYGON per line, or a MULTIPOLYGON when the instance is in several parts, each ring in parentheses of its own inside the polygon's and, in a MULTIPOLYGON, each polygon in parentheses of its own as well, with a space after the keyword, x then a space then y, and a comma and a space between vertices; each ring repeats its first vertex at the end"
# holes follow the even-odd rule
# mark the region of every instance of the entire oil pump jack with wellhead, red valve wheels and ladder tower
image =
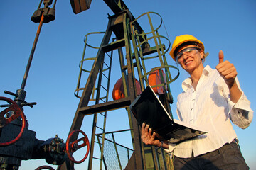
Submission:
MULTIPOLYGON (((102 33, 104 37, 102 38, 100 47, 97 47, 97 55, 92 59, 94 62, 90 70, 84 67, 87 58, 85 57, 85 50, 83 52, 80 62, 78 86, 75 90, 75 96, 80 98, 80 102, 70 127, 70 135, 68 135, 68 139, 66 143, 64 143, 64 140, 58 138, 58 136, 45 141, 36 139, 36 132, 28 130, 28 122, 23 113, 23 106, 33 107, 33 105, 36 104, 27 103, 25 101, 26 91, 24 88, 41 26, 43 23, 48 23, 55 19, 56 0, 53 8, 49 7, 53 2, 52 0, 44 0, 44 7, 40 8, 41 0, 38 9, 31 17, 31 20, 39 23, 39 26, 21 89, 18 89, 16 94, 5 91, 6 94, 14 96, 14 101, 9 98, 0 97, 0 101, 6 102, 6 104, 1 105, 1 107, 6 109, 0 113, 0 170, 18 169, 21 165, 21 161, 28 159, 46 159, 48 164, 59 165, 58 170, 73 170, 74 163, 83 162, 87 156, 89 156, 87 169, 92 169, 95 159, 100 160, 100 168, 97 169, 171 169, 169 155, 166 154, 163 149, 156 149, 144 145, 141 142, 139 125, 129 111, 129 105, 137 97, 139 91, 143 91, 145 86, 151 85, 156 89, 155 92, 159 95, 159 99, 171 115, 170 104, 173 102, 173 99, 169 84, 178 77, 179 73, 176 74, 176 77, 171 77, 169 69, 178 69, 167 63, 165 54, 169 50, 170 43, 169 45, 164 45, 162 39, 167 40, 167 42, 169 42, 169 39, 159 35, 159 27, 162 25, 162 21, 160 26, 154 28, 150 16, 151 14, 159 16, 159 14, 154 12, 142 14, 142 16, 148 17, 151 28, 149 33, 145 32, 138 22, 138 19, 142 16, 134 18, 129 8, 127 8, 122 0, 104 1, 114 12, 114 15, 108 17, 109 22, 107 29, 102 33), (115 38, 112 38, 112 34, 114 34, 115 38), (110 41, 111 38, 112 42, 110 41), (151 47, 151 45, 154 46, 151 47), (119 87, 121 86, 122 90, 114 89, 113 93, 117 91, 117 93, 122 94, 120 95, 122 97, 115 98, 114 101, 109 101, 110 73, 112 71, 111 66, 114 50, 118 52, 121 67, 120 73, 122 74, 122 81, 119 81, 121 82, 119 87), (159 67, 148 70, 146 69, 145 60, 158 60, 159 67), (80 79, 83 79, 83 72, 90 72, 89 76, 86 77, 87 81, 85 86, 82 86, 80 83, 80 79), (135 75, 137 75, 138 80, 135 79, 135 75), (150 76, 151 78, 149 78, 150 76), (150 81, 152 77, 154 81, 150 81), (80 91, 82 91, 81 95, 79 94, 80 91), (104 93, 102 91, 104 91, 104 93), (102 94, 104 94, 104 96, 102 96, 102 94), (95 101, 95 104, 89 106, 89 101, 95 101), (127 109, 129 130, 105 132, 107 112, 119 108, 127 109), (83 118, 86 115, 93 115, 90 143, 85 133, 80 130, 83 118), (102 128, 97 125, 100 115, 103 116, 102 128), (100 128, 102 132, 96 133, 97 128, 100 128), (133 149, 129 149, 115 142, 114 133, 124 131, 131 133, 133 149), (82 133, 84 137, 78 139, 79 133, 82 133), (112 135, 111 139, 107 137, 109 134, 112 135), (80 141, 82 141, 82 145, 78 144, 80 141), (112 144, 112 150, 114 150, 114 159, 116 160, 114 162, 114 168, 111 166, 111 163, 108 161, 109 157, 106 155, 108 152, 106 150, 107 143, 112 144), (94 155, 95 144, 98 144, 100 147, 100 158, 94 155), (72 154, 81 147, 87 147, 85 157, 81 161, 75 161, 72 154), (127 152, 128 156, 125 164, 122 164, 118 147, 125 148, 132 152, 132 154, 127 152)), ((73 12, 77 14, 89 9, 91 0, 70 0, 70 4, 73 8, 73 12)), ((161 16, 159 17, 161 18, 161 16)), ((90 33, 86 35, 85 49, 86 47, 92 47, 87 43, 87 37, 90 35, 90 33)), ((38 169, 44 168, 52 169, 50 166, 38 167, 38 169)))

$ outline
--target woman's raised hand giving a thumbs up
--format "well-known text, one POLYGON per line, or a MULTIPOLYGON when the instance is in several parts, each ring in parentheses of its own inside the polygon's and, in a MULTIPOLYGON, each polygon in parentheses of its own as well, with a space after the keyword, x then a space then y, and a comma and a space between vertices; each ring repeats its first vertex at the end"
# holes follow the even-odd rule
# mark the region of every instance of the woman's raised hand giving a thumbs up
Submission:
POLYGON ((235 82, 235 77, 238 72, 235 69, 234 64, 231 64, 229 61, 224 61, 223 51, 219 52, 219 64, 216 66, 216 69, 220 73, 220 75, 225 79, 228 87, 231 88, 235 82))

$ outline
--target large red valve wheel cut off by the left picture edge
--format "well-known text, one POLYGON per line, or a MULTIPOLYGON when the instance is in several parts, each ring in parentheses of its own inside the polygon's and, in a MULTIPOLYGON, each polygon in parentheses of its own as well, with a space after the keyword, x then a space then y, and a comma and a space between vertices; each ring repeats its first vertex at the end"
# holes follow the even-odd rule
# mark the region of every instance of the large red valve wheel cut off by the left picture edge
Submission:
POLYGON ((19 132, 18 136, 14 140, 11 140, 9 142, 0 143, 0 146, 8 146, 17 142, 21 138, 21 135, 23 134, 26 127, 26 116, 24 115, 23 111, 18 106, 18 104, 15 101, 11 100, 10 98, 0 97, 0 101, 7 101, 10 104, 8 108, 0 112, 0 128, 4 128, 4 126, 11 123, 13 120, 18 118, 19 116, 21 116, 22 118, 21 132, 19 132), (9 118, 5 118, 4 115, 9 111, 14 111, 14 115, 11 115, 11 117, 9 118))

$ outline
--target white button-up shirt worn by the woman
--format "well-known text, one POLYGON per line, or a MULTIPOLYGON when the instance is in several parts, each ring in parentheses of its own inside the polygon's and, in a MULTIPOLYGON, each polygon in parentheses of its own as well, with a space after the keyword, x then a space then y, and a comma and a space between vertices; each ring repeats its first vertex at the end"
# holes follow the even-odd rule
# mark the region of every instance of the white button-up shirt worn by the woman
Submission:
MULTIPOLYGON (((238 79, 235 79, 240 89, 238 79)), ((182 83, 183 93, 178 95, 178 118, 191 125, 208 131, 193 140, 169 145, 169 151, 174 149, 176 157, 188 158, 193 155, 212 152, 225 143, 232 142, 237 135, 230 123, 233 121, 240 128, 247 128, 252 122, 252 109, 242 91, 242 96, 237 103, 230 101, 229 89, 225 80, 216 69, 206 66, 198 81, 196 90, 191 85, 191 78, 182 83)))

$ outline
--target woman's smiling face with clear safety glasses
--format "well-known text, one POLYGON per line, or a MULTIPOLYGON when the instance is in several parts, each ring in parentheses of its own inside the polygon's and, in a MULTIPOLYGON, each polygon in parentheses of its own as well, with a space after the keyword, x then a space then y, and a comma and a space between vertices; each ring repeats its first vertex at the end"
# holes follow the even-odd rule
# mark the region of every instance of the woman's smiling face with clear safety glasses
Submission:
POLYGON ((177 52, 177 62, 188 73, 192 73, 195 69, 203 66, 203 50, 196 50, 195 45, 185 45, 177 52), (192 47, 192 48, 190 48, 192 47))

